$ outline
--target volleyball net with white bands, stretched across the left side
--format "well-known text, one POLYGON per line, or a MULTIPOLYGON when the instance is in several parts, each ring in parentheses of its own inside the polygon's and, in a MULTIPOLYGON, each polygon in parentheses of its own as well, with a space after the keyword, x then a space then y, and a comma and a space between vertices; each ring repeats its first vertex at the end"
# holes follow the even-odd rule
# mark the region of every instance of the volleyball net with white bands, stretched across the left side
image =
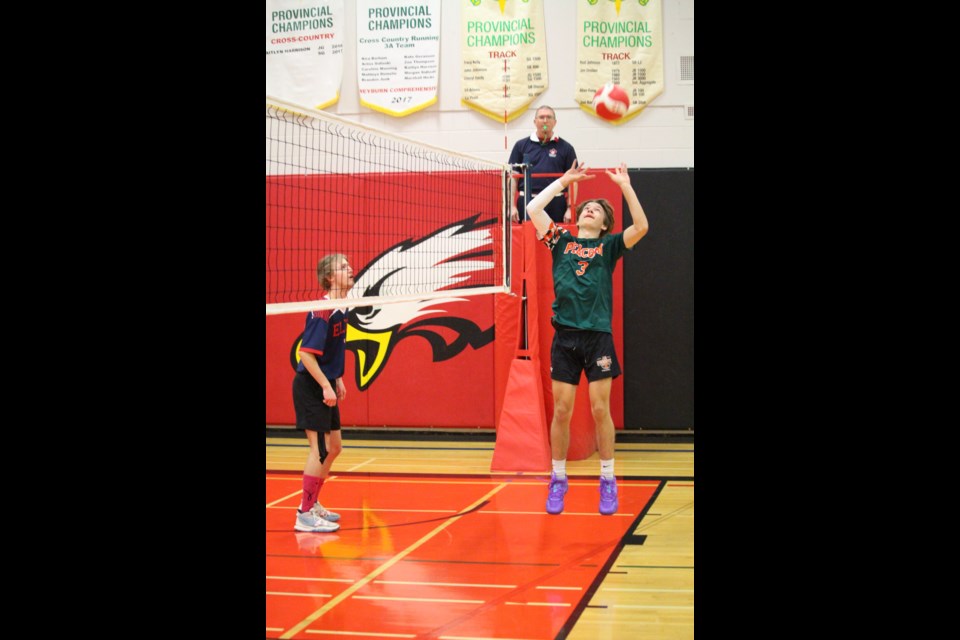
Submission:
POLYGON ((267 315, 510 292, 509 165, 270 96, 266 114, 267 315), (321 300, 331 253, 346 299, 321 300))

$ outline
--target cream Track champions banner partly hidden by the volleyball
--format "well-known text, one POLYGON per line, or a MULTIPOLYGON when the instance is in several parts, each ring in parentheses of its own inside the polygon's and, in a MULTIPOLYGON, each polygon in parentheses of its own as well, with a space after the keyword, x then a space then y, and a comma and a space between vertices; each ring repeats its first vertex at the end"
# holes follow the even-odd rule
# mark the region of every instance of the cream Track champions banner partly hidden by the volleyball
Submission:
POLYGON ((596 115, 593 96, 606 83, 630 98, 623 124, 663 93, 660 0, 577 0, 577 82, 574 99, 596 115))

